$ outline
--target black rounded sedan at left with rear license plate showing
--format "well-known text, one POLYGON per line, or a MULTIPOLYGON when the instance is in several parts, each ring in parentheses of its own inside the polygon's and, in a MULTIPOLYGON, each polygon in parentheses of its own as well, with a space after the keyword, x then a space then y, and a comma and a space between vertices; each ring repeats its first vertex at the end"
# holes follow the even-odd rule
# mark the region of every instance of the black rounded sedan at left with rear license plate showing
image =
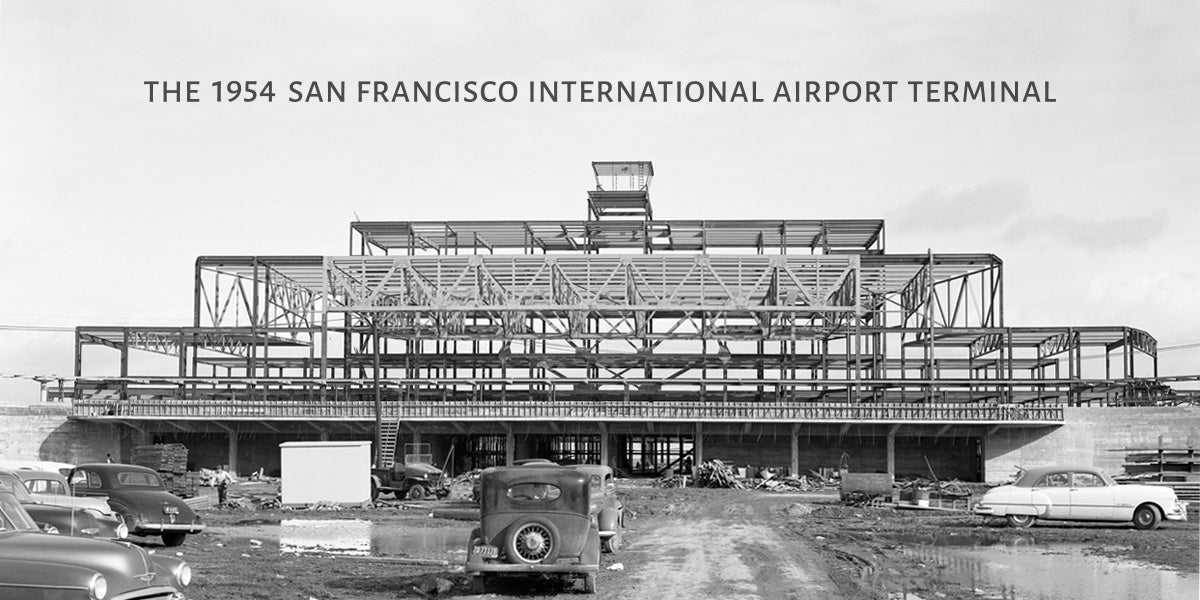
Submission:
POLYGON ((133 535, 161 535, 163 546, 179 546, 190 533, 204 530, 191 506, 168 492, 158 473, 137 464, 80 464, 67 476, 74 496, 107 496, 133 535))

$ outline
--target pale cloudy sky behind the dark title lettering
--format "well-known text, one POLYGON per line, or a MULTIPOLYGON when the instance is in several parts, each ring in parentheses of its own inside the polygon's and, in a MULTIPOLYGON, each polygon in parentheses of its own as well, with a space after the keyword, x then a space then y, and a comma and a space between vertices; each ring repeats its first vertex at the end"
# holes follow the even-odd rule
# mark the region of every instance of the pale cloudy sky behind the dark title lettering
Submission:
MULTIPOLYGON (((200 254, 344 254, 365 220, 888 220, 1004 259, 1006 324, 1200 343, 1200 5, 0 2, 0 325, 187 325, 200 254), (148 103, 196 79, 205 101, 148 103), (217 104, 209 82, 274 80, 217 104), (383 79, 1020 79, 1052 104, 290 104, 383 79)), ((0 329, 0 373, 72 368, 0 329)), ((1162 374, 1200 373, 1200 348, 1162 374)), ((0 402, 36 385, 0 382, 0 402)))

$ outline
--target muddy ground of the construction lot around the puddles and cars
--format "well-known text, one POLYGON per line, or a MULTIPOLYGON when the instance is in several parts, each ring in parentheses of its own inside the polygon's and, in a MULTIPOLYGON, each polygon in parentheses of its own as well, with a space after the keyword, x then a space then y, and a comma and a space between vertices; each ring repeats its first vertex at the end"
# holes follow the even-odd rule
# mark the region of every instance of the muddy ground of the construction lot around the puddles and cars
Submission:
MULTIPOLYGON (((833 493, 659 490, 636 481, 623 481, 620 493, 634 518, 622 551, 602 556, 599 594, 593 596, 598 599, 1007 598, 1002 590, 962 584, 911 551, 948 540, 1076 542, 1085 552, 1190 574, 1200 560, 1194 515, 1188 523, 1166 523, 1157 532, 1073 523, 1018 530, 965 514, 846 506, 833 493)), ((179 548, 164 548, 152 538, 140 541, 193 565, 196 581, 187 590, 192 600, 583 596, 576 582, 521 578, 475 596, 455 564, 464 553, 445 564, 410 564, 424 560, 403 551, 293 554, 281 552, 270 533, 282 520, 366 520, 388 530, 456 534, 473 527, 463 520, 470 516, 470 504, 462 500, 337 511, 217 509, 204 511, 210 530, 190 536, 179 548)))

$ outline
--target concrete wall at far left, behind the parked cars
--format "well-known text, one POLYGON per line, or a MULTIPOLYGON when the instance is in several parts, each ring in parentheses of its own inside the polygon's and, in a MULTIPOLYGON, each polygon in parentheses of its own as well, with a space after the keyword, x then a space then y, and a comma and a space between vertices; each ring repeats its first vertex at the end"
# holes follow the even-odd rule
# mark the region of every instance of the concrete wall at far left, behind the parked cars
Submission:
POLYGON ((119 457, 122 428, 67 420, 65 406, 0 407, 0 457, 79 464, 119 457))

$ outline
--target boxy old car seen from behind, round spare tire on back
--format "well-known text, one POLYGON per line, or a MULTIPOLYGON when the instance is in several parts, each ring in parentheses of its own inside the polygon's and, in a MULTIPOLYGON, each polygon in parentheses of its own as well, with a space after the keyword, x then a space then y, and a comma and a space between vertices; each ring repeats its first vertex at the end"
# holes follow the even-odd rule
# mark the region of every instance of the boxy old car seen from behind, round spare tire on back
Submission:
POLYGON ((480 475, 480 523, 467 542, 472 588, 503 574, 563 574, 596 590, 600 530, 592 478, 571 467, 492 467, 480 475))

